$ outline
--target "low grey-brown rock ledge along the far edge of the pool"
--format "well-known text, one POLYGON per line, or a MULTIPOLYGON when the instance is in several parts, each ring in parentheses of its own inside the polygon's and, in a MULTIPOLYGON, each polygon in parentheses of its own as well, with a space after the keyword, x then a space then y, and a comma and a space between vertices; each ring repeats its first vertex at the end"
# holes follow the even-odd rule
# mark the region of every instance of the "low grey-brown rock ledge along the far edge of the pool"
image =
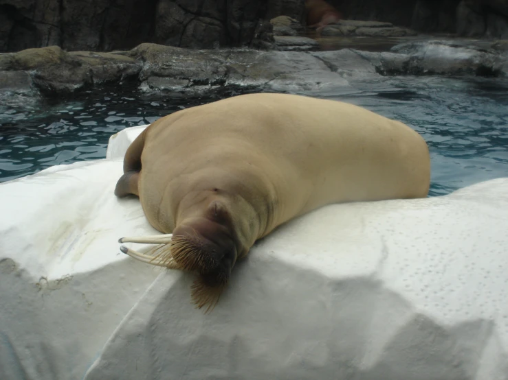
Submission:
POLYGON ((193 50, 152 43, 111 53, 43 47, 0 54, 0 97, 52 97, 126 81, 148 95, 191 96, 228 86, 319 93, 379 75, 508 77, 508 43, 413 40, 381 52, 193 50))

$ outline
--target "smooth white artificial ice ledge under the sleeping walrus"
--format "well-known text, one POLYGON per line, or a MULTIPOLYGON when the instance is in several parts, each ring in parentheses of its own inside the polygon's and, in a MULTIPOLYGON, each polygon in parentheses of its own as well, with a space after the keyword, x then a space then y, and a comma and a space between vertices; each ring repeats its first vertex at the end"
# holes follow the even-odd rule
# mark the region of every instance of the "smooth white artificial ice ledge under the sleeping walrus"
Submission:
POLYGON ((118 250, 155 232, 121 172, 0 185, 0 379, 508 379, 508 178, 295 219, 204 315, 118 250))

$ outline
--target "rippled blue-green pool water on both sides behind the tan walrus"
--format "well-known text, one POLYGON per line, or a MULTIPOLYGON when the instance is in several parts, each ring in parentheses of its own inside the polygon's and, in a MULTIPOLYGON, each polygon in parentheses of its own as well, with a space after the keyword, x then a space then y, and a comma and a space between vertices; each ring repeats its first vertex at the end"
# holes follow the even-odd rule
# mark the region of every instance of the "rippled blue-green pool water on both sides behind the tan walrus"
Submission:
MULTIPOLYGON (((218 94, 217 98, 236 93, 218 94)), ((508 82, 382 78, 321 94, 403 121, 428 142, 430 195, 508 177, 508 82)), ((38 106, 0 105, 0 181, 61 163, 104 158, 109 136, 214 99, 144 99, 135 89, 82 93, 38 106)))

